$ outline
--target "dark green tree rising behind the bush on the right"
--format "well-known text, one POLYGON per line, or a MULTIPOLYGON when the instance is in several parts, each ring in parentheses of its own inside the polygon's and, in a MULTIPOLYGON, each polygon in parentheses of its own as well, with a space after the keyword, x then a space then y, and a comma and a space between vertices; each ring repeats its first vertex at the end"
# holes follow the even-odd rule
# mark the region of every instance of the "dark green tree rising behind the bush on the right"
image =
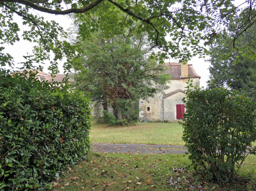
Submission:
MULTIPOLYGON (((250 47, 250 51, 256 50, 255 27, 256 24, 252 25, 237 38, 236 47, 250 47)), ((256 61, 247 54, 226 46, 229 40, 229 33, 224 32, 222 38, 210 47, 211 58, 207 60, 211 63, 208 86, 244 90, 251 98, 256 98, 256 61)))

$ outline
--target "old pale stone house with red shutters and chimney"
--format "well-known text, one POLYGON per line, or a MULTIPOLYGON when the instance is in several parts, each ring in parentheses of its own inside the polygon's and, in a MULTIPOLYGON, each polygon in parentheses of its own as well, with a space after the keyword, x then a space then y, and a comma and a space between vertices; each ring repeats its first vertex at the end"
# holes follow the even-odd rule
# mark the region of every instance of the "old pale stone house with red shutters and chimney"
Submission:
POLYGON ((183 114, 186 110, 183 97, 185 87, 188 86, 188 75, 193 78, 193 86, 200 86, 200 76, 195 72, 192 64, 186 63, 166 63, 168 69, 167 74, 172 76, 172 80, 168 83, 169 89, 164 89, 163 92, 158 92, 154 98, 151 98, 149 102, 145 100, 139 100, 140 117, 146 117, 147 121, 163 121, 169 122, 182 121, 183 114), (164 112, 163 112, 164 111, 164 112))

